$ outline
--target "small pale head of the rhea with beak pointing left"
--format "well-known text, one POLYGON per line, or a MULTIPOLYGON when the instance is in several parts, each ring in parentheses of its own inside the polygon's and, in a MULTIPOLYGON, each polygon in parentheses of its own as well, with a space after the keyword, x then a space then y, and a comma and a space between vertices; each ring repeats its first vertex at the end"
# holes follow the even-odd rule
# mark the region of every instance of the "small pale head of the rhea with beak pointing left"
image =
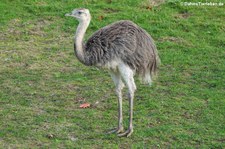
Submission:
POLYGON ((85 8, 74 9, 72 12, 65 14, 65 16, 74 17, 79 22, 87 22, 91 20, 89 10, 85 8))

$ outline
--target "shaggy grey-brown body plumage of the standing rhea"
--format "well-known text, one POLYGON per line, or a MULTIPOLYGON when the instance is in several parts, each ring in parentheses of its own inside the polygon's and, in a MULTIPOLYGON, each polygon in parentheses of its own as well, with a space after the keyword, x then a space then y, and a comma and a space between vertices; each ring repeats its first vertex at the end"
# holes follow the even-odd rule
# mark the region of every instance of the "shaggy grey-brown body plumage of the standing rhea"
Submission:
POLYGON ((114 59, 121 59, 143 77, 147 71, 154 75, 160 64, 151 36, 128 20, 115 22, 96 31, 83 45, 83 49, 85 65, 105 65, 114 59))

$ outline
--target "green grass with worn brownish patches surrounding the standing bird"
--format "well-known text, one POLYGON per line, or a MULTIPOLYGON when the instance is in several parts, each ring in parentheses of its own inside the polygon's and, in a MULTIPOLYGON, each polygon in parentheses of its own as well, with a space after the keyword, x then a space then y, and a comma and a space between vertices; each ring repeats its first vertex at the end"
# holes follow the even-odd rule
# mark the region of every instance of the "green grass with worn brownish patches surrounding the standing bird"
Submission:
MULTIPOLYGON (((158 6, 147 0, 3 0, 0 147, 225 148, 224 7, 175 0, 158 6), (129 19, 156 41, 160 73, 152 87, 137 80, 130 138, 105 134, 117 125, 117 98, 107 71, 74 57, 78 22, 64 14, 77 7, 92 13, 86 38, 129 19), (81 100, 94 106, 80 109, 81 100)), ((123 103, 127 126, 128 100, 123 103)))

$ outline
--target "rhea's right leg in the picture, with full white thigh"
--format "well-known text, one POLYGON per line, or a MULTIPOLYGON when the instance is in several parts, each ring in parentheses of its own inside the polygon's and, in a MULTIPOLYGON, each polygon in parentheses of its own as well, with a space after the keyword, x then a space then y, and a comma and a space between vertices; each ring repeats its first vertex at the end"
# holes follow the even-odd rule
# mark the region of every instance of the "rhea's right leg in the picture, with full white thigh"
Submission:
POLYGON ((134 82, 134 73, 133 70, 122 64, 119 66, 119 72, 128 87, 128 98, 129 98, 129 127, 128 130, 118 136, 127 136, 129 137, 133 133, 133 99, 134 99, 134 92, 136 90, 136 85, 134 82))

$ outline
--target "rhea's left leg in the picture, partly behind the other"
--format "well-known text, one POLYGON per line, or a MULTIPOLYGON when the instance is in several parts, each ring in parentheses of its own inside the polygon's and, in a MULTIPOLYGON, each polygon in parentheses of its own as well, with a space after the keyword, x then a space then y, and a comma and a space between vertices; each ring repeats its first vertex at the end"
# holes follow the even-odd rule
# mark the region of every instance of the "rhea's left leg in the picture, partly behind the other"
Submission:
POLYGON ((118 96, 118 127, 110 131, 109 133, 120 133, 123 131, 123 115, 122 115, 122 89, 124 84, 119 72, 110 72, 113 82, 116 86, 116 94, 118 96))

